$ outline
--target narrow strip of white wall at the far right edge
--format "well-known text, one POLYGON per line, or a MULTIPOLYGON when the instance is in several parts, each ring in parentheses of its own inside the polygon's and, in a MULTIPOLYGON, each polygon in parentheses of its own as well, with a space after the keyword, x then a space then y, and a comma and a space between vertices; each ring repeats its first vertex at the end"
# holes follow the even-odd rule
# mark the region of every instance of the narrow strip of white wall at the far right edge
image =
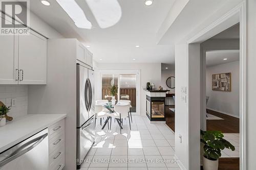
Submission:
POLYGON ((256 1, 247 0, 247 17, 246 17, 246 28, 247 28, 247 48, 246 48, 246 68, 247 68, 247 81, 246 81, 246 169, 255 169, 255 151, 256 151, 256 114, 255 114, 255 96, 256 96, 256 1), (252 135, 253 134, 253 135, 252 135))

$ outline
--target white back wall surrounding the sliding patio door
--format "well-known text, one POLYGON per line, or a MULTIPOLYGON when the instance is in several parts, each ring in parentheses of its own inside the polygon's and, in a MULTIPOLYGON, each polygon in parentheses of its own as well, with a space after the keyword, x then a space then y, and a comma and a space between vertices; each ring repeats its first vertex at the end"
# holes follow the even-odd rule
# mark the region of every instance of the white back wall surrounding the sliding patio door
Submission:
POLYGON ((161 63, 98 63, 98 68, 95 69, 95 100, 100 100, 99 82, 100 75, 99 69, 117 69, 117 70, 129 70, 129 69, 140 69, 140 113, 141 115, 146 114, 146 97, 143 88, 146 88, 146 82, 155 83, 156 87, 161 85, 161 63))

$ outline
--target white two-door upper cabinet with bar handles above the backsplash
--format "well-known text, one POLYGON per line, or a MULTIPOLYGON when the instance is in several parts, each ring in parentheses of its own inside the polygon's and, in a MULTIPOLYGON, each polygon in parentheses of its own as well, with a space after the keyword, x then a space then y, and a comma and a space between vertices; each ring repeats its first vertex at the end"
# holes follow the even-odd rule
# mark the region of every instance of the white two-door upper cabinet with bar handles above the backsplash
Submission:
POLYGON ((47 39, 32 30, 0 36, 0 60, 0 84, 47 83, 47 39))

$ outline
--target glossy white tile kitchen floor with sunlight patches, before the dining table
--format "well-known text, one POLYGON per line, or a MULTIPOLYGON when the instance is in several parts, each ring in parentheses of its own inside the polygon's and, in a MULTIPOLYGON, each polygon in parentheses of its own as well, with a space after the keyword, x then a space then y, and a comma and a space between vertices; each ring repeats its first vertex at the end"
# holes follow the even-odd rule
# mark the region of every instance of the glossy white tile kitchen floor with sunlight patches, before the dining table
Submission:
MULTIPOLYGON (((99 119, 97 119, 97 124, 99 119)), ((145 116, 133 116, 130 130, 127 119, 122 134, 116 122, 109 131, 97 126, 96 142, 81 165, 81 170, 178 170, 174 160, 174 133, 164 123, 150 123, 145 116)))

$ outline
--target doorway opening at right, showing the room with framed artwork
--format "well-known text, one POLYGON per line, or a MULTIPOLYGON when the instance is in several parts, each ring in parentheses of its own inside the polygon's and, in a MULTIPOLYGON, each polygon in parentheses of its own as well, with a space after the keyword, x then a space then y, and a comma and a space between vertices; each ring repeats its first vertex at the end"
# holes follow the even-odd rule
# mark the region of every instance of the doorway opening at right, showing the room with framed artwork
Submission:
MULTIPOLYGON (((204 131, 220 131, 235 150, 224 149, 219 169, 240 168, 240 25, 222 31, 200 44, 203 51, 204 131)), ((202 154, 202 151, 201 151, 202 154)))

